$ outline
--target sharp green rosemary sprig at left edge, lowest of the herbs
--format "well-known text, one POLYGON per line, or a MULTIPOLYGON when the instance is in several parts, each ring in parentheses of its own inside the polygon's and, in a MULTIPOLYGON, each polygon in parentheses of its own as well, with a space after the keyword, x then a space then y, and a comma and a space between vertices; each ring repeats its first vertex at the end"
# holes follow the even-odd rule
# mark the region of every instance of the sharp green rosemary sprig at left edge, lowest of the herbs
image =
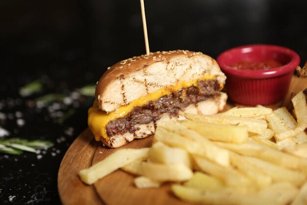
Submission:
POLYGON ((23 151, 36 152, 37 149, 49 148, 53 143, 41 140, 26 140, 20 138, 0 139, 0 152, 6 154, 22 154, 23 151))

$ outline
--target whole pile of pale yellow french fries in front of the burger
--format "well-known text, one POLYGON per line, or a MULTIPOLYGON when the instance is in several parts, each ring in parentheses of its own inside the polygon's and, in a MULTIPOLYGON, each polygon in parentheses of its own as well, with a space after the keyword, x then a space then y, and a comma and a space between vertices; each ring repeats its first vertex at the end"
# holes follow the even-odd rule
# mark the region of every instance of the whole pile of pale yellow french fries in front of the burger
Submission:
POLYGON ((186 114, 158 125, 153 146, 119 149, 79 176, 94 183, 117 169, 137 175, 138 188, 174 182, 179 199, 205 205, 307 205, 307 103, 286 108, 232 108, 186 114))

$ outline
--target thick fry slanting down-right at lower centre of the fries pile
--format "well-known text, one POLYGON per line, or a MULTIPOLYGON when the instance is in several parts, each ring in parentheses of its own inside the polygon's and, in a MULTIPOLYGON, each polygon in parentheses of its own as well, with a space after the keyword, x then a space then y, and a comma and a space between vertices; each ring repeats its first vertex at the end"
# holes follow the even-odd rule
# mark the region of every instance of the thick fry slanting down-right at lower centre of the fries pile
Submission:
POLYGON ((214 164, 213 162, 200 157, 193 155, 197 167, 212 176, 215 176, 221 179, 227 186, 230 186, 239 192, 250 192, 255 189, 255 186, 252 184, 251 180, 246 176, 242 175, 233 168, 225 168, 214 164))

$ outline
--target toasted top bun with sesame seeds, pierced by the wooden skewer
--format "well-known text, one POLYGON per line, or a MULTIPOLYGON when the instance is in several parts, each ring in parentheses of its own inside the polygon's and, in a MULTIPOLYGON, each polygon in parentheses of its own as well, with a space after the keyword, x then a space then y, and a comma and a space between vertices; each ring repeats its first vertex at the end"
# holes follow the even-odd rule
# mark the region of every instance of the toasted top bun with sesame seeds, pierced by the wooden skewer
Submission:
POLYGON ((224 73, 209 56, 182 50, 155 52, 109 67, 97 83, 95 96, 102 111, 112 112, 160 88, 204 75, 216 76, 225 84, 224 73))

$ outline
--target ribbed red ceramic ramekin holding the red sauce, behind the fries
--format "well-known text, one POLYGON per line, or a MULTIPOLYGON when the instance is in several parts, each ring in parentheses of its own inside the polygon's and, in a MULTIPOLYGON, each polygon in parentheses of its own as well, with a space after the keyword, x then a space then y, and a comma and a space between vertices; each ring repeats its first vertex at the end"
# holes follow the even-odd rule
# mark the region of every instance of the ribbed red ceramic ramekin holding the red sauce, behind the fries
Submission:
POLYGON ((233 101, 245 105, 268 105, 285 97, 300 57, 288 48, 258 44, 227 50, 218 56, 217 62, 227 76, 226 90, 233 101), (282 66, 268 70, 230 67, 241 61, 263 62, 272 59, 282 66))

